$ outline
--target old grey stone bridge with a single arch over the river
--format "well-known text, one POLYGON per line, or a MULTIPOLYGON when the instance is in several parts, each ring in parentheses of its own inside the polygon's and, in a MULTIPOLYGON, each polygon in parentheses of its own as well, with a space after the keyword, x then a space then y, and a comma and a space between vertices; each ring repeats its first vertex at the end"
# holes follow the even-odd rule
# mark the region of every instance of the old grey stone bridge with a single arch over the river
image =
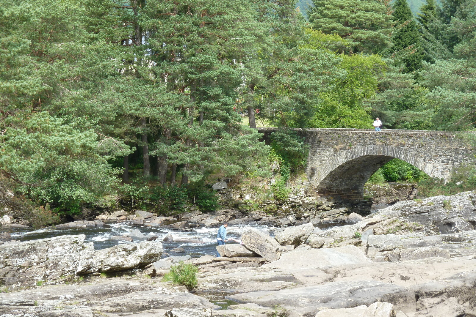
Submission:
MULTIPOLYGON (((277 128, 259 128, 264 140, 277 128)), ((398 158, 435 178, 449 179, 453 169, 474 158, 464 133, 373 129, 299 129, 309 145, 306 173, 321 197, 363 198, 364 184, 382 165, 398 158)))

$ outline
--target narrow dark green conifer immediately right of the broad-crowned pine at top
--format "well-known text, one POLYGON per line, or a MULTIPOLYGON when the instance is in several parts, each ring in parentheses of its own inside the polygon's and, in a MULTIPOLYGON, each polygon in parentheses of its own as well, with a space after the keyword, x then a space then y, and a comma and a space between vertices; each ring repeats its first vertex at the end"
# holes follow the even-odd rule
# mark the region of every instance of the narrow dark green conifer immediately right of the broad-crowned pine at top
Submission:
POLYGON ((405 73, 413 72, 422 66, 421 61, 424 58, 417 24, 407 0, 396 0, 393 9, 392 16, 397 26, 390 51, 396 58, 396 64, 401 65, 405 73))

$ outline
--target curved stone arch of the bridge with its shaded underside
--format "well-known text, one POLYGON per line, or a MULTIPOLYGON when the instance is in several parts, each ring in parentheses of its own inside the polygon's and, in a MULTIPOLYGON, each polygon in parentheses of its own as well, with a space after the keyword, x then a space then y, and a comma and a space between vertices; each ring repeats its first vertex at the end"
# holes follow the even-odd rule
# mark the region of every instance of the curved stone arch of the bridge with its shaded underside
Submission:
POLYGON ((311 176, 311 184, 320 196, 362 198, 364 184, 370 176, 394 158, 414 165, 431 177, 445 178, 431 162, 401 147, 369 145, 339 153, 311 176))

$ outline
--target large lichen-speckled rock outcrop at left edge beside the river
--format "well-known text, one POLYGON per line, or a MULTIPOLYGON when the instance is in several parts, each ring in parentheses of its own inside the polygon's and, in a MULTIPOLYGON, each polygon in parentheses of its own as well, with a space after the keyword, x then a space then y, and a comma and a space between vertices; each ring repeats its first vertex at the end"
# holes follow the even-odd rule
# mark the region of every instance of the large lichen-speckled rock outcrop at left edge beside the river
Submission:
POLYGON ((59 236, 0 245, 0 283, 9 288, 31 287, 39 281, 72 277, 81 261, 94 252, 85 235, 59 236))

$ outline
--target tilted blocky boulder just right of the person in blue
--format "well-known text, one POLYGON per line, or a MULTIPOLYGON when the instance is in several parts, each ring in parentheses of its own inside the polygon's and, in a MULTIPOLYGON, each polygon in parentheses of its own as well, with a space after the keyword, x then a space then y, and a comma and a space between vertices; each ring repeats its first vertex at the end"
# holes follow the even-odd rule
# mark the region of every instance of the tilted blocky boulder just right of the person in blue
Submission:
POLYGON ((241 236, 241 241, 248 250, 255 251, 268 262, 279 259, 279 243, 266 233, 247 228, 241 236))

